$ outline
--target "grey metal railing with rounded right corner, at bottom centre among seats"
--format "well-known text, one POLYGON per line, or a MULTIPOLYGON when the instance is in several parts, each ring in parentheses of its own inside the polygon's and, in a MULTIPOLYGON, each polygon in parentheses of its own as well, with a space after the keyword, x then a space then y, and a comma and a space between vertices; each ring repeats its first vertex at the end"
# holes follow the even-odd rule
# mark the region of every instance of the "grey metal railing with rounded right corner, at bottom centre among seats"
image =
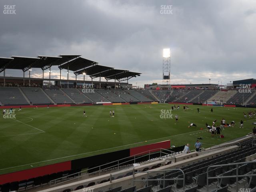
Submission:
POLYGON ((143 171, 143 172, 134 172, 133 171, 133 186, 135 185, 136 181, 146 182, 147 186, 148 186, 148 181, 163 181, 164 182, 164 186, 165 186, 165 181, 173 181, 173 180, 175 180, 175 181, 176 180, 183 180, 183 190, 185 189, 185 173, 181 169, 168 169, 168 170, 143 171), (173 179, 166 179, 165 178, 165 176, 167 176, 166 172, 175 171, 175 170, 178 170, 178 171, 182 172, 183 178, 173 178, 173 179), (164 172, 164 175, 163 175, 164 178, 163 179, 161 179, 161 178, 148 179, 149 173, 152 173, 152 172, 164 172), (137 174, 137 173, 146 173, 147 174, 147 178, 146 179, 135 179, 135 174, 137 174))

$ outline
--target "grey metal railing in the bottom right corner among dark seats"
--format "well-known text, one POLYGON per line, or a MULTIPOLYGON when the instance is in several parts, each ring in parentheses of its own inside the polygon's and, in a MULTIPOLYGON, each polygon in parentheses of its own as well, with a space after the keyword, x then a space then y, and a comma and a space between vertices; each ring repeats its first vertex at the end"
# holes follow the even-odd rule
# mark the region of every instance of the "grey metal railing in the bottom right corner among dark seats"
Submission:
POLYGON ((218 178, 236 178, 236 191, 238 190, 238 177, 250 177, 250 176, 256 176, 256 174, 246 174, 246 175, 238 175, 238 165, 240 164, 249 164, 249 163, 256 163, 256 161, 248 161, 248 162, 239 162, 239 163, 230 163, 230 164, 222 164, 222 165, 212 165, 207 168, 206 172, 206 192, 209 192, 209 179, 218 179, 218 178), (209 169, 212 167, 222 167, 222 166, 230 166, 235 165, 236 166, 236 175, 231 176, 215 176, 215 177, 208 177, 209 169))

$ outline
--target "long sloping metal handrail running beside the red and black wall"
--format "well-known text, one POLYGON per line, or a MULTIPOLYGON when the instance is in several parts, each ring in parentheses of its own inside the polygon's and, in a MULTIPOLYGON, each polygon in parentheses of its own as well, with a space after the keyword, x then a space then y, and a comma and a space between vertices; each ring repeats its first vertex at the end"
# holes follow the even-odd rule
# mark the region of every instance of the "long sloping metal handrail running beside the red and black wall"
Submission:
MULTIPOLYGON (((116 166, 117 166, 117 168, 118 168, 118 170, 119 170, 119 169, 120 169, 120 165, 125 164, 125 163, 130 162, 130 161, 134 161, 134 163, 136 163, 136 160, 138 160, 139 158, 143 158, 143 157, 145 157, 145 156, 149 156, 148 161, 151 161, 151 160, 150 160, 150 155, 152 155, 152 154, 157 154, 157 153, 160 153, 160 157, 158 157, 159 159, 162 157, 162 154, 171 155, 171 157, 175 157, 175 156, 176 156, 176 153, 173 152, 173 151, 170 151, 170 150, 164 149, 164 148, 156 148, 156 149, 148 150, 148 151, 145 151, 145 152, 140 152, 140 153, 135 154, 135 155, 133 155, 133 156, 129 156, 129 157, 122 158, 122 159, 119 159, 119 160, 115 160, 115 161, 112 161, 112 162, 109 162, 109 163, 106 163, 106 164, 102 164, 102 165, 100 165, 100 166, 96 166, 96 167, 89 168, 89 169, 86 169, 86 170, 83 170, 83 171, 80 171, 80 172, 76 172, 76 173, 74 173, 74 174, 70 174, 70 175, 63 176, 63 177, 60 177, 60 178, 57 178, 57 179, 54 179, 54 180, 50 180, 49 185, 50 185, 50 186, 56 185, 56 182, 57 182, 58 180, 62 180, 62 182, 59 182, 58 184, 64 183, 64 182, 66 182, 66 181, 70 181, 70 180, 73 180, 73 179, 77 179, 77 178, 78 178, 78 180, 80 180, 80 177, 81 177, 81 176, 84 176, 84 175, 82 175, 82 173, 88 172, 88 170, 94 170, 94 169, 96 169, 96 168, 99 168, 99 170, 94 171, 94 172, 91 172, 91 173, 88 173, 88 174, 95 174, 95 173, 99 172, 99 176, 100 176, 100 172, 103 172, 104 170, 108 170, 108 169, 113 168, 113 167, 116 167, 116 166), (156 152, 150 153, 151 151, 155 151, 155 150, 160 150, 160 151, 156 151, 156 152), (162 150, 168 151, 168 152, 170 152, 170 154, 165 153, 165 152, 163 152, 162 150), (145 153, 147 153, 147 154, 145 154, 145 153), (143 155, 143 154, 145 154, 145 155, 143 155), (142 155, 142 156, 140 156, 140 155, 142 155), (138 156, 138 157, 136 157, 136 156, 138 156), (134 157, 134 158, 133 158, 133 159, 130 159, 130 160, 127 160, 127 161, 125 161, 125 162, 120 163, 121 160, 125 160, 125 159, 132 158, 132 157, 134 157), (112 166, 109 166, 109 167, 106 167, 106 168, 101 169, 102 166, 106 166, 106 165, 108 165, 108 164, 113 164, 113 163, 115 163, 115 162, 117 162, 117 164, 114 164, 114 165, 112 165, 112 166), (77 175, 77 174, 78 174, 78 177, 75 177, 75 175, 77 175), (74 178, 63 181, 64 178, 68 178, 68 177, 70 177, 70 176, 74 176, 74 178), (53 185, 52 185, 52 182, 54 182, 53 185)), ((154 158, 153 160, 155 160, 155 159, 156 159, 156 158, 154 158)), ((148 162, 148 161, 147 161, 147 162, 148 162)))

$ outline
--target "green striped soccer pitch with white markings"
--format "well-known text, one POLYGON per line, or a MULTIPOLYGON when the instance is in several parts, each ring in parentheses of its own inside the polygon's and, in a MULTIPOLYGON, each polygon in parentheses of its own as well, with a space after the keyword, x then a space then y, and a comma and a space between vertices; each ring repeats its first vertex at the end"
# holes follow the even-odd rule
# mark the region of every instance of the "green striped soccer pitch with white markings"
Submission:
POLYGON ((190 143, 192 150, 196 139, 202 137, 202 147, 207 148, 246 135, 256 121, 255 117, 246 119, 244 128, 239 128, 243 112, 252 108, 213 107, 211 113, 210 106, 189 106, 183 111, 183 105, 172 112, 173 119, 160 118, 161 110, 170 107, 170 104, 143 104, 16 110, 16 119, 0 118, 0 174, 163 140, 171 140, 173 146, 190 143), (110 118, 109 111, 113 109, 115 117, 110 118), (82 117, 83 110, 87 117, 82 117), (212 125, 218 119, 219 125, 222 117, 227 123, 234 120, 235 127, 225 128, 222 139, 211 138, 205 123, 212 125), (197 128, 188 128, 190 123, 197 128))

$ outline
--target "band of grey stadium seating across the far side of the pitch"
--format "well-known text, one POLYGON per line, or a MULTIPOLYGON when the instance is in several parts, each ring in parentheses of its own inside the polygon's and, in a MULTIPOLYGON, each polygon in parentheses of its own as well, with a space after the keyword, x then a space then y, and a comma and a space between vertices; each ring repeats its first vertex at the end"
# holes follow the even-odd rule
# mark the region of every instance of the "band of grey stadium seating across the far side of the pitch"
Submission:
POLYGON ((92 102, 199 102, 221 100, 228 104, 255 104, 256 91, 236 90, 102 90, 75 88, 18 88, 0 87, 0 102, 4 105, 81 104, 92 102), (230 98, 231 97, 231 98, 230 98))

